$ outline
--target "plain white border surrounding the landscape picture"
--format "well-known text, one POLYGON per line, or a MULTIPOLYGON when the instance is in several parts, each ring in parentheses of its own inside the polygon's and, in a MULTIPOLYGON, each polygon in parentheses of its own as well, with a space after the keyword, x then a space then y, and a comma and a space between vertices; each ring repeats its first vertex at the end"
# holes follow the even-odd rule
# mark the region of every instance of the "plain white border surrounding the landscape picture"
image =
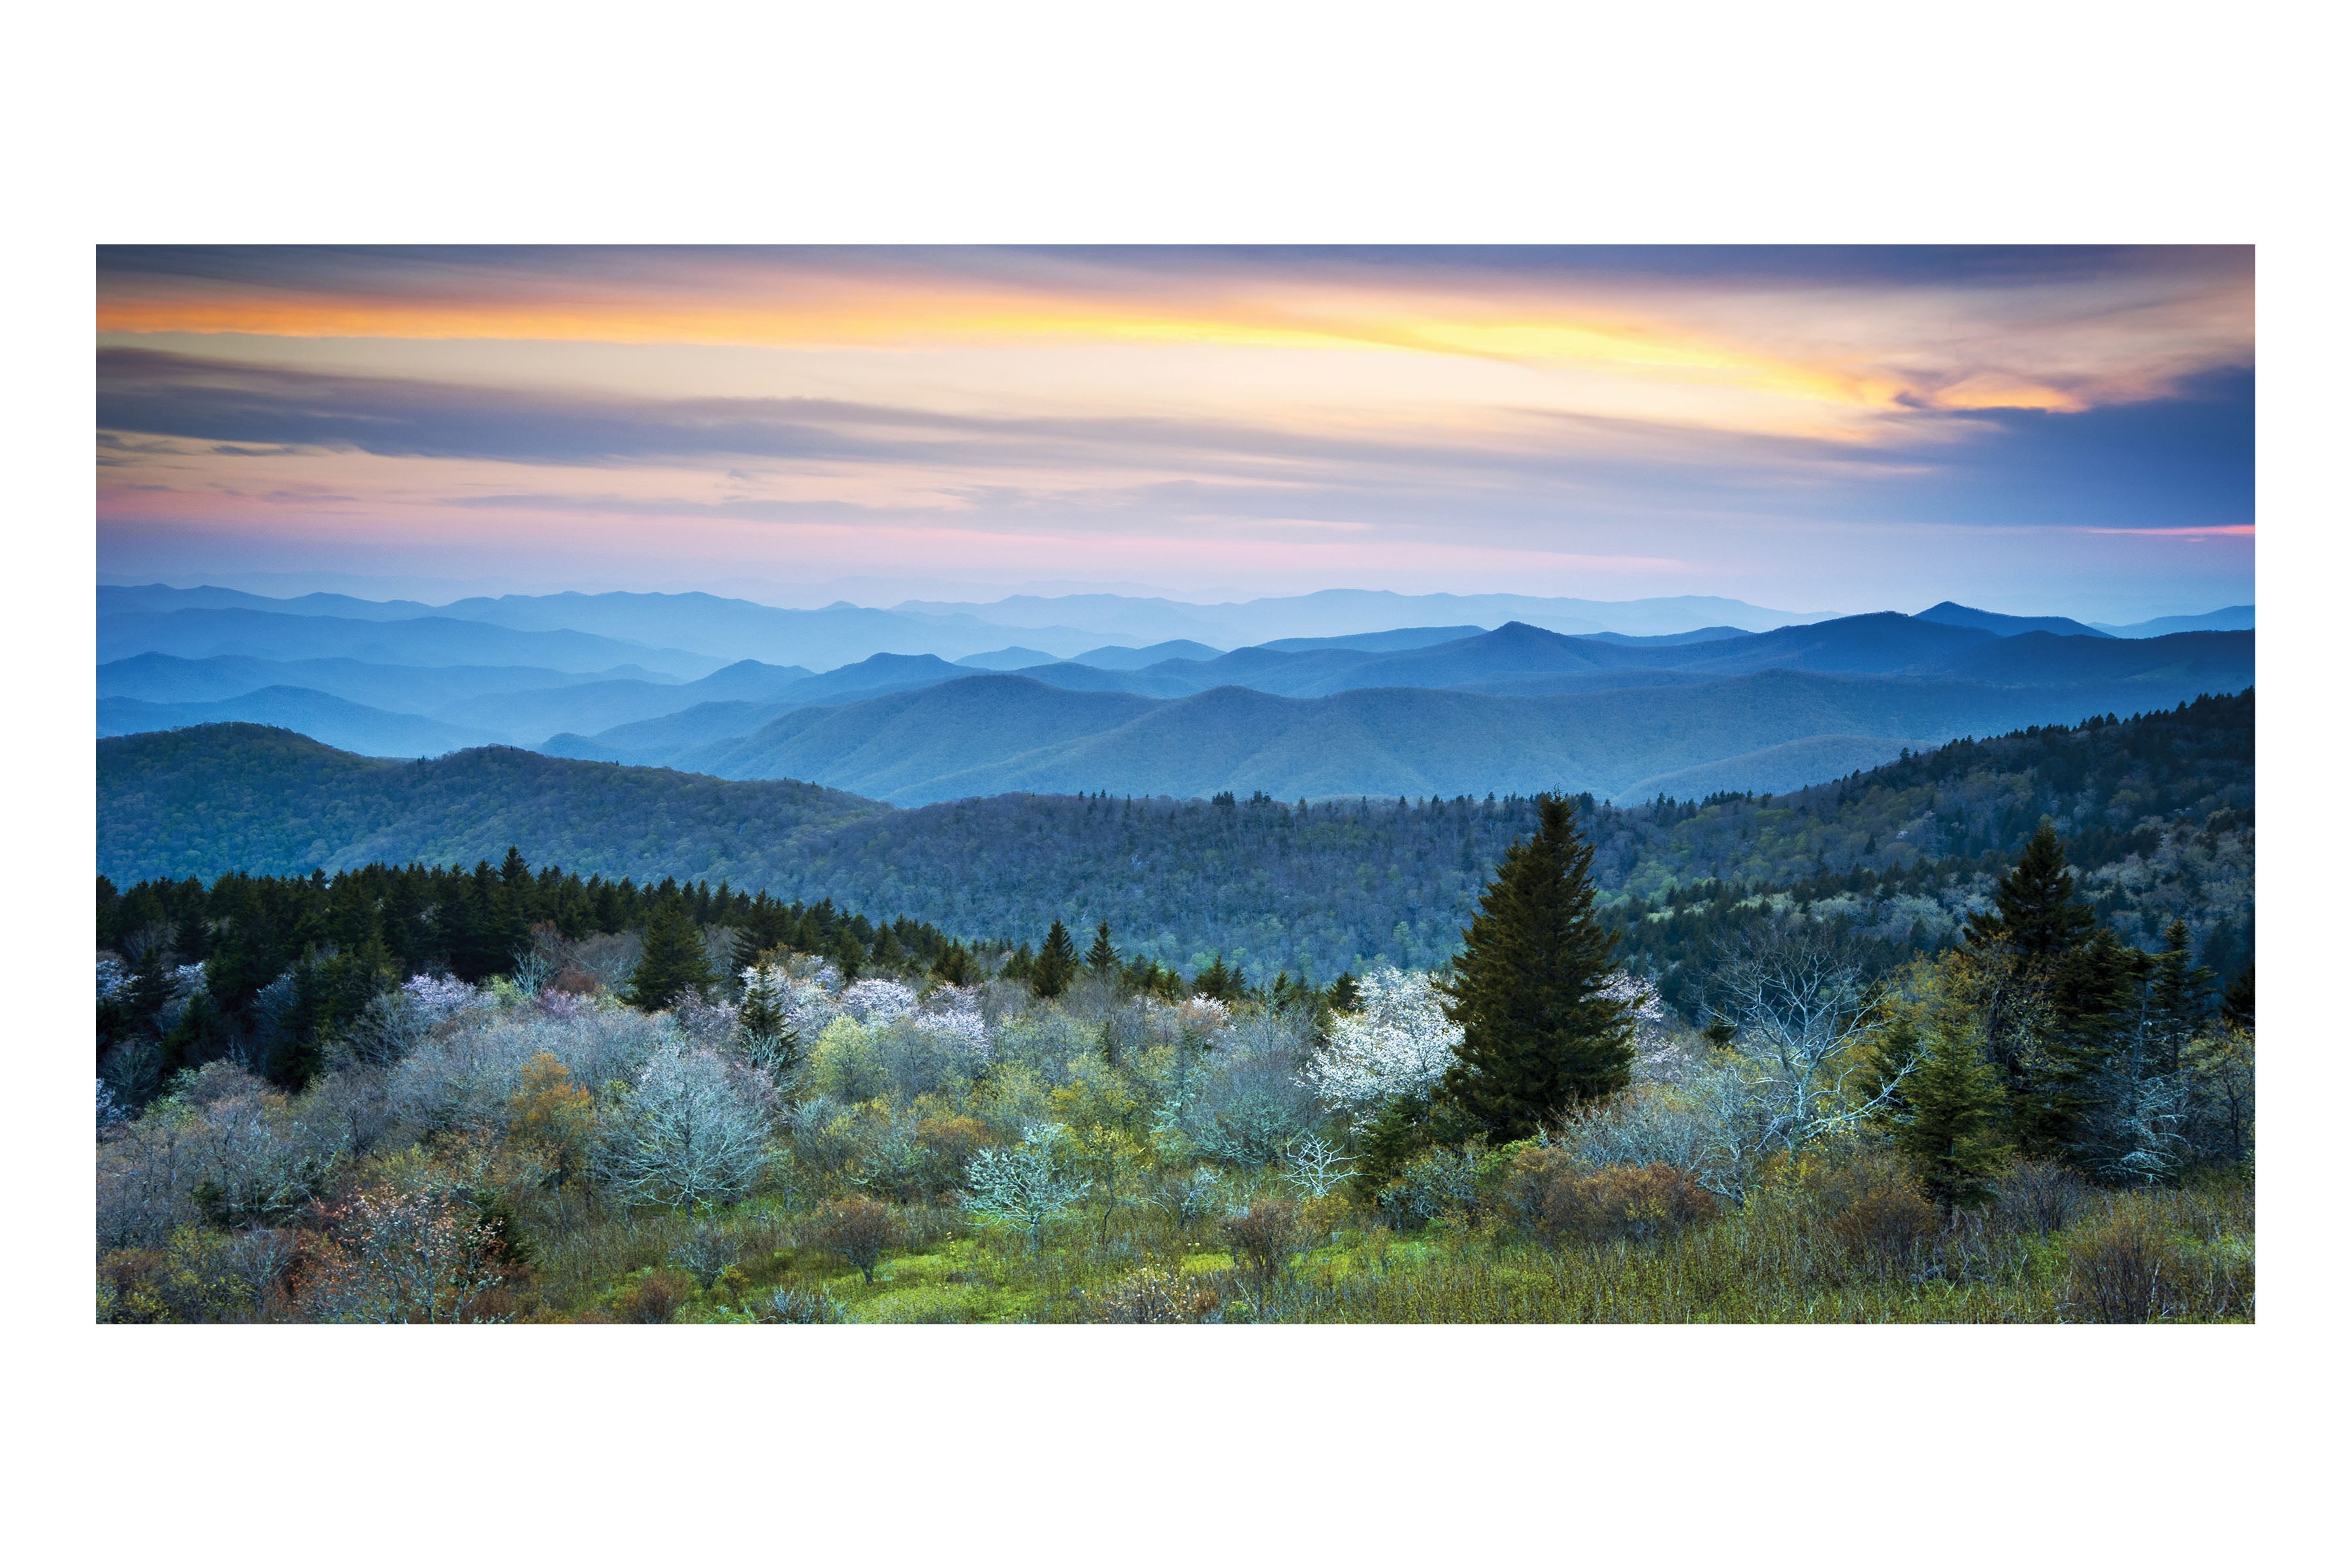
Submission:
POLYGON ((2340 47, 2241 5, 9 24, 16 1561, 2307 1561, 2343 1479, 2340 47), (89 1324, 99 242, 2256 242, 2256 1328, 89 1324), (2338 609, 2328 609, 2336 604, 2338 609), (2310 1535, 2307 1535, 2310 1533, 2310 1535))

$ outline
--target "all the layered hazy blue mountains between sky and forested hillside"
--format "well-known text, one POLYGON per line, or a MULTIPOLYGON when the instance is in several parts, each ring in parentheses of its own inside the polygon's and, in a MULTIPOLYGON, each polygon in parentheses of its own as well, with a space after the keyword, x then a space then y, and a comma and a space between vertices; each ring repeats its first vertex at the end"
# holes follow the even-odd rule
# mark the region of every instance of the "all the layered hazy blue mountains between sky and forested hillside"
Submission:
MULTIPOLYGON (((983 609, 1042 618, 1042 607, 1061 607, 1065 623, 1080 623, 1103 611, 1098 599, 1112 595, 983 609)), ((1444 621, 1230 651, 1192 637, 1138 646, 1131 637, 1152 630, 1152 607, 1169 602, 1117 604, 1143 607, 1129 616, 1129 642, 1089 642, 1101 632, 1075 625, 1040 639, 1080 642, 1068 656, 1018 642, 953 661, 884 649, 722 663, 713 649, 774 639, 776 628, 814 637, 826 618, 835 630, 863 625, 856 635, 901 621, 938 637, 1004 628, 964 625, 971 607, 955 604, 779 611, 713 595, 510 595, 430 607, 101 588, 96 719, 101 736, 261 722, 379 757, 503 743, 722 778, 809 778, 894 804, 1002 790, 1296 799, 1571 788, 1632 799, 1788 790, 1962 733, 2253 684, 2251 630, 2143 637, 1952 602, 1766 630, 1444 621)), ((1477 614, 1522 599, 1331 592, 1188 609, 1230 618, 1277 607, 1348 625, 1395 604, 1477 614)), ((1595 609, 1526 604, 1569 623, 1578 623, 1571 609, 1595 609)), ((1597 609, 1642 625, 1755 607, 1597 609)), ((938 637, 936 646, 962 646, 938 637)), ((830 644, 842 646, 858 644, 830 644)))

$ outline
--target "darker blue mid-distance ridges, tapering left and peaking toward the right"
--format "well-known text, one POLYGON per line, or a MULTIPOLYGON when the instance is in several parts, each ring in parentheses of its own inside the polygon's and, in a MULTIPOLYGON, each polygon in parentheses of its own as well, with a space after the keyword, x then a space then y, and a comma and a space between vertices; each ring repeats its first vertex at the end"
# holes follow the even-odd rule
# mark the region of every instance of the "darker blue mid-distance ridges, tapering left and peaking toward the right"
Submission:
POLYGON ((1397 654, 1237 649, 1145 670, 915 675, 896 693, 793 689, 769 710, 682 710, 543 750, 814 778, 894 804, 1002 790, 1632 799, 1700 778, 1788 790, 1962 733, 2239 691, 2253 684, 2253 635, 2004 637, 1886 614, 1663 646, 1505 625, 1397 654))

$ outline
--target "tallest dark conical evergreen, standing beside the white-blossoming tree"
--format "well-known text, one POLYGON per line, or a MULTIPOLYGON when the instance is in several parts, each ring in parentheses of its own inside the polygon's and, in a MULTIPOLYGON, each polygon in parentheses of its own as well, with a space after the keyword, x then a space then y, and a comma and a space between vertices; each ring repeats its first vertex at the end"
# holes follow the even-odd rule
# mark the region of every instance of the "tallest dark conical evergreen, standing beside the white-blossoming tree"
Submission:
POLYGON ((1536 813, 1437 985, 1463 1030, 1444 1098, 1496 1143, 1632 1081, 1632 1016, 1602 994, 1616 936, 1592 914, 1592 846, 1557 795, 1538 795, 1536 813))

